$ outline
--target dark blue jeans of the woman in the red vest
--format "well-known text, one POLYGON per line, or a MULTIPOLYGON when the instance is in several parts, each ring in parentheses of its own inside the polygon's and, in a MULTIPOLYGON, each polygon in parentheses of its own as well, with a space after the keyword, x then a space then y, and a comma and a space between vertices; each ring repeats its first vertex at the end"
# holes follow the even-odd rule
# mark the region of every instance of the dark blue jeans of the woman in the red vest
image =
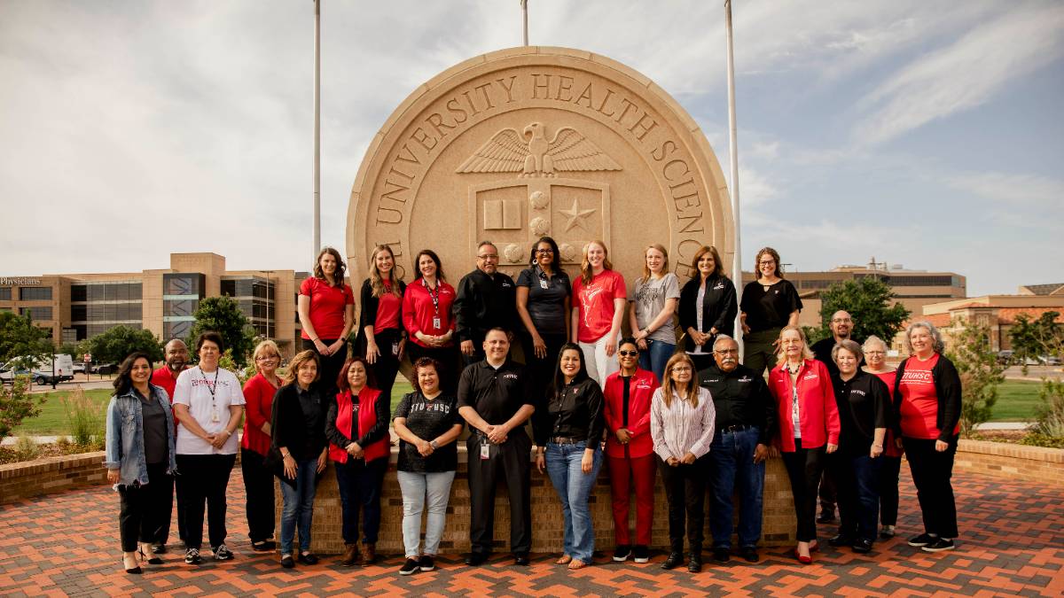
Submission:
POLYGON ((362 543, 377 544, 377 533, 381 529, 381 486, 384 471, 388 468, 386 458, 369 463, 361 459, 348 459, 336 464, 336 485, 343 513, 343 534, 345 544, 359 542, 359 513, 364 518, 362 543))

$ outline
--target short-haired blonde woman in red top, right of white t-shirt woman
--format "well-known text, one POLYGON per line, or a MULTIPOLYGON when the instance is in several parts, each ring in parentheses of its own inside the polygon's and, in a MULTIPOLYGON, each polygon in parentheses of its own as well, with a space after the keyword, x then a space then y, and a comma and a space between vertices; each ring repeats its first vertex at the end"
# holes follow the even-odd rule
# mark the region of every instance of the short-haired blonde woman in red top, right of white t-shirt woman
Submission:
POLYGON ((240 471, 251 548, 265 551, 273 549, 273 469, 265 461, 273 435, 270 428, 273 395, 281 387, 281 379, 277 377, 281 351, 272 340, 263 340, 252 356, 255 375, 244 383, 247 416, 240 441, 240 471))

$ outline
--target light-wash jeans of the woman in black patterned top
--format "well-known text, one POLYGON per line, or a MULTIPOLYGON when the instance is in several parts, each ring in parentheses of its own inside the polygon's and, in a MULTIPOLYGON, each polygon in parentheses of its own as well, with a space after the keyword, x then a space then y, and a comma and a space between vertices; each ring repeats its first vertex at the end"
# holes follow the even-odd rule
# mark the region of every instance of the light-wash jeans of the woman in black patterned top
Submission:
POLYGON ((408 559, 422 554, 421 513, 428 503, 429 516, 425 524, 425 554, 439 553, 439 538, 447 524, 447 500, 451 496, 454 471, 397 471, 402 489, 402 543, 408 559))

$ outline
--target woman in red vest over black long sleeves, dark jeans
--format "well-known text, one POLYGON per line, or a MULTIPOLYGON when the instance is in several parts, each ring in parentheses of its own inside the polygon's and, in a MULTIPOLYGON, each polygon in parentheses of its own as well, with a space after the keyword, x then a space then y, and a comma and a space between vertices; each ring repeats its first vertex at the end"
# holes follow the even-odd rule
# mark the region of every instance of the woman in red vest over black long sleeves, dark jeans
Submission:
POLYGON ((359 512, 362 512, 362 565, 377 560, 377 534, 381 528, 381 486, 388 467, 389 397, 375 388, 363 358, 344 364, 336 381, 339 393, 329 405, 326 437, 329 458, 336 463, 336 484, 344 520, 347 550, 340 564, 359 560, 359 512))

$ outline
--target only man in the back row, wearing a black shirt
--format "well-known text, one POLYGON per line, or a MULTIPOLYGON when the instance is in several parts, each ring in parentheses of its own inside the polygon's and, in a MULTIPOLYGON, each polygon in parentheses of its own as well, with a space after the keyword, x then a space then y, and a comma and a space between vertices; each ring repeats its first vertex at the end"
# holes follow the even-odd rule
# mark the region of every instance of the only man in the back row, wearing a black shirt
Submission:
POLYGON ((462 277, 454 293, 454 330, 462 365, 484 360, 484 335, 493 328, 513 334, 517 327, 517 286, 499 271, 499 250, 491 242, 477 247, 477 269, 462 277))

